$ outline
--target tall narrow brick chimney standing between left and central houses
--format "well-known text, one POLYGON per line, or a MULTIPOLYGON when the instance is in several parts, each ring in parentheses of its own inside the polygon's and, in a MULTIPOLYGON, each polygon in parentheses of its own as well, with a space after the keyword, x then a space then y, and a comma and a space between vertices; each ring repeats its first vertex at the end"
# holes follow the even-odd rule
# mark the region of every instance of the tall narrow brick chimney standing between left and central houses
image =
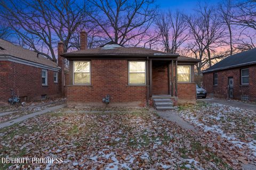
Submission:
POLYGON ((59 87, 61 89, 61 95, 65 96, 65 89, 64 89, 64 58, 60 55, 64 53, 64 43, 60 41, 58 43, 58 66, 61 67, 61 71, 58 75, 58 82, 59 87))

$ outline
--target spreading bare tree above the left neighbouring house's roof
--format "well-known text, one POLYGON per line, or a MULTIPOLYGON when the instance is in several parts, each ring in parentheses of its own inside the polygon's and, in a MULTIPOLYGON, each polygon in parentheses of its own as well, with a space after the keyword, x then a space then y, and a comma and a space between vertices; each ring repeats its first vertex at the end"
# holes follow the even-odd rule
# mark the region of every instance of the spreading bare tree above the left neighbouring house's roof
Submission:
POLYGON ((85 25, 85 5, 75 0, 1 1, 1 15, 18 35, 20 43, 56 62, 54 48, 58 41, 65 52, 79 26, 85 25))

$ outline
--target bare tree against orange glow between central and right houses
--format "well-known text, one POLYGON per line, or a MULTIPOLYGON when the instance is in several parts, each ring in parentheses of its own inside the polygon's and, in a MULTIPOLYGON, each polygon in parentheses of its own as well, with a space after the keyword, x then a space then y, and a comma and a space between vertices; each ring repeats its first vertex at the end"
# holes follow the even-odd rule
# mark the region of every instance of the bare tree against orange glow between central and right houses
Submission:
MULTIPOLYGON (((216 55, 215 50, 223 46, 226 38, 225 27, 219 20, 212 6, 198 5, 194 15, 184 15, 189 27, 190 40, 187 49, 201 60, 197 64, 197 73, 200 74, 204 65, 212 65, 214 58, 222 58, 226 55, 216 55)), ((226 53, 224 53, 226 54, 226 53)))

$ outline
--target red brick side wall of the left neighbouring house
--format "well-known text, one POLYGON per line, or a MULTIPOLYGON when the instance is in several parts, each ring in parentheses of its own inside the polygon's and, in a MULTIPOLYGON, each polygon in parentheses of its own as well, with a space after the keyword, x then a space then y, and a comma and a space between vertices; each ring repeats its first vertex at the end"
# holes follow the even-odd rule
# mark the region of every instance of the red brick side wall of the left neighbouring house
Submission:
MULTIPOLYGON (((42 86, 42 69, 10 61, 0 62, 0 102, 5 103, 11 97, 11 89, 15 95, 27 97, 28 101, 40 100, 41 95, 47 98, 60 97, 60 84, 53 82, 53 72, 47 71, 47 86, 42 86)), ((60 77, 60 73, 59 73, 60 77)))

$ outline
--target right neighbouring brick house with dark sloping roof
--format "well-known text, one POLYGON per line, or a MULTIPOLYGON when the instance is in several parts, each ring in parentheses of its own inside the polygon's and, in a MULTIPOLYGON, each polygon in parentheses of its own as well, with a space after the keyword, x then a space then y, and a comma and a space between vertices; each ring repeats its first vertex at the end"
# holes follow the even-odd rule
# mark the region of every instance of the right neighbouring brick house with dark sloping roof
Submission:
POLYGON ((203 71, 203 86, 215 97, 256 101, 256 49, 226 57, 203 71))

